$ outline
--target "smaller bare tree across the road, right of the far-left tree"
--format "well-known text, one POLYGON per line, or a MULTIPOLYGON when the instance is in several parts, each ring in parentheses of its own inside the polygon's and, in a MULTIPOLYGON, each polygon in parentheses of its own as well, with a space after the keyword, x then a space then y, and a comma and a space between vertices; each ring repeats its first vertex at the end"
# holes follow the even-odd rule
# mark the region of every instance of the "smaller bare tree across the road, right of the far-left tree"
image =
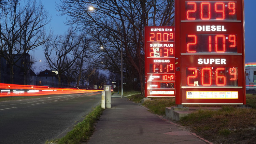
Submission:
POLYGON ((61 84, 61 76, 75 63, 82 51, 81 42, 84 35, 77 35, 73 28, 69 28, 65 35, 57 35, 51 41, 45 43, 45 57, 47 66, 58 71, 58 86, 61 84))

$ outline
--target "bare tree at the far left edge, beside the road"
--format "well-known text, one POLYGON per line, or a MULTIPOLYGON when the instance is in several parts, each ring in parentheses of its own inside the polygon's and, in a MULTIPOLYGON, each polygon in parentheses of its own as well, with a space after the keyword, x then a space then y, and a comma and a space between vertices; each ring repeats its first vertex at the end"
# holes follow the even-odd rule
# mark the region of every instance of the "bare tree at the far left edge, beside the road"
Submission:
POLYGON ((17 61, 48 40, 44 27, 50 17, 36 0, 24 4, 20 0, 6 2, 0 9, 0 53, 10 66, 13 83, 13 66, 17 61))

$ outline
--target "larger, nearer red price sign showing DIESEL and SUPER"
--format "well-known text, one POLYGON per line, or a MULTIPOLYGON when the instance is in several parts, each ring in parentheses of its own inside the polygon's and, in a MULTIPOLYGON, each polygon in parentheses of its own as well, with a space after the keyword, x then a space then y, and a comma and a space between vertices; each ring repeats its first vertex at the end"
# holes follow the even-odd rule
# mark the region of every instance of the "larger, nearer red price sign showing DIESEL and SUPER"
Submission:
POLYGON ((244 0, 175 1, 176 104, 245 104, 244 0))

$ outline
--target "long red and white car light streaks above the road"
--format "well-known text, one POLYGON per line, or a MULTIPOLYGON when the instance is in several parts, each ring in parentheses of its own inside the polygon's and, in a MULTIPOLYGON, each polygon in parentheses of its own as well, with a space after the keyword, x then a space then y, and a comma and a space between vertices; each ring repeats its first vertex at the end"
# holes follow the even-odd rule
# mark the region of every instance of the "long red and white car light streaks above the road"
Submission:
POLYGON ((85 90, 76 88, 55 88, 48 86, 16 85, 0 83, 0 97, 10 96, 44 96, 72 93, 91 93, 102 90, 85 90))

